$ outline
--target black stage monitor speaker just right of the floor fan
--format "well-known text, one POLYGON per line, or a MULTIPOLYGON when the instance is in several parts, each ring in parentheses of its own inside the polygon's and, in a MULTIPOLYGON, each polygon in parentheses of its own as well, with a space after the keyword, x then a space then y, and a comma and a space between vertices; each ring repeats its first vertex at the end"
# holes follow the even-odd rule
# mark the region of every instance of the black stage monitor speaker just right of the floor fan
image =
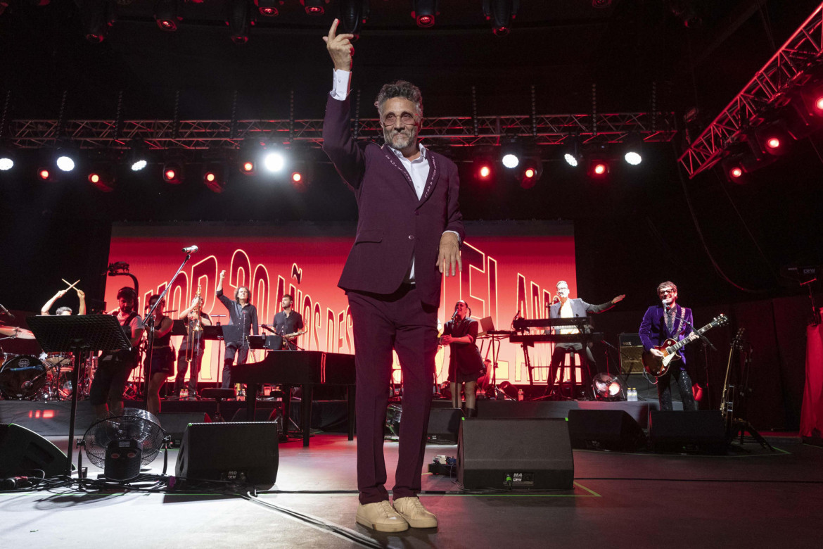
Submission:
POLYGON ((271 487, 278 460, 277 423, 192 423, 184 431, 174 474, 187 484, 197 479, 271 487))

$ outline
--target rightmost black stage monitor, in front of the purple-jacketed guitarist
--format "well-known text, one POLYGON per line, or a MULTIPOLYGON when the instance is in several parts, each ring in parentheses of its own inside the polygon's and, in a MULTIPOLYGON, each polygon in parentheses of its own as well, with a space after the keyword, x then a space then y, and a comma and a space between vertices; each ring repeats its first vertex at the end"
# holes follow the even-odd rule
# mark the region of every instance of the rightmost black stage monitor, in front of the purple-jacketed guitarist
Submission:
POLYGON ((655 452, 725 454, 726 426, 719 410, 651 412, 649 438, 655 452))

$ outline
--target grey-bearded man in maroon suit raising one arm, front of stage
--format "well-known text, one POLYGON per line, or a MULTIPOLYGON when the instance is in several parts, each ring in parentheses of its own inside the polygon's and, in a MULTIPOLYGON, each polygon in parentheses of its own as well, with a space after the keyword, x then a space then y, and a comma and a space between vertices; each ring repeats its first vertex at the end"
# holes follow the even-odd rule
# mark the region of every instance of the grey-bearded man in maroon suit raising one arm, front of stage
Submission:
POLYGON ((348 91, 352 35, 324 36, 334 62, 334 85, 323 120, 323 151, 355 193, 355 244, 338 286, 354 322, 357 369, 356 521, 381 532, 434 528, 437 519, 417 499, 437 352, 442 273, 461 269, 463 216, 458 169, 417 142, 420 90, 397 81, 381 89, 385 145, 351 138, 348 91), (388 502, 383 433, 392 351, 403 375, 403 421, 393 505, 388 502))

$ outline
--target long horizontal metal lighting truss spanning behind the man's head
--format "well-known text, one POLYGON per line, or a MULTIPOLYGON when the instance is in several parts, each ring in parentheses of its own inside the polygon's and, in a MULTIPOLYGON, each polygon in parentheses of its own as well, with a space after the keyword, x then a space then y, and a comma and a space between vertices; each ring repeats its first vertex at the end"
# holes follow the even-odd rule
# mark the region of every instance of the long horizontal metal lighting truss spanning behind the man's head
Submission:
MULTIPOLYGON (((129 147, 142 139, 152 149, 233 149, 244 138, 319 147, 323 120, 12 120, 7 142, 18 148, 53 147, 61 138, 84 149, 129 147)), ((359 137, 380 135, 379 119, 360 119, 359 137)), ((546 114, 537 116, 441 117, 425 119, 421 137, 449 147, 498 145, 506 137, 557 145, 571 134, 584 141, 622 142, 638 133, 646 142, 667 142, 676 133, 673 113, 546 114)))

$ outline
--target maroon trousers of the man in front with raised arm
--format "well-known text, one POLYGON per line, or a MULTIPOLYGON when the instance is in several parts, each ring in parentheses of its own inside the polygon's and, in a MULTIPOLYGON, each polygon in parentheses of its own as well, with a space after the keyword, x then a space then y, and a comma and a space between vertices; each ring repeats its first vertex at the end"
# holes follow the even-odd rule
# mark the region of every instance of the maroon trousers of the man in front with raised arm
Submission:
POLYGON ((360 503, 388 500, 383 437, 392 350, 403 375, 402 419, 394 499, 421 491, 437 353, 437 309, 423 305, 414 285, 391 295, 349 291, 357 370, 357 489, 360 503))

